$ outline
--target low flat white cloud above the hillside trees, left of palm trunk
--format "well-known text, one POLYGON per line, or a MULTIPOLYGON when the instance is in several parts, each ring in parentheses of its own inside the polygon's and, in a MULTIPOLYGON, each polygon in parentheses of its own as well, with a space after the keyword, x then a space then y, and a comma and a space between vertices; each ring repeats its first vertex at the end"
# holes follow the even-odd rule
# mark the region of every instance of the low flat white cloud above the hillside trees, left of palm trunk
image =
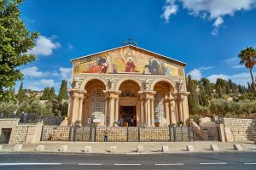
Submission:
MULTIPOLYGON (((253 75, 255 76, 255 74, 256 73, 254 72, 253 75)), ((241 84, 244 86, 247 86, 247 82, 252 82, 249 72, 241 72, 241 73, 234 74, 234 75, 218 74, 218 75, 212 75, 207 78, 210 80, 210 82, 216 82, 217 78, 222 78, 226 81, 231 79, 232 82, 236 82, 237 84, 241 84)))

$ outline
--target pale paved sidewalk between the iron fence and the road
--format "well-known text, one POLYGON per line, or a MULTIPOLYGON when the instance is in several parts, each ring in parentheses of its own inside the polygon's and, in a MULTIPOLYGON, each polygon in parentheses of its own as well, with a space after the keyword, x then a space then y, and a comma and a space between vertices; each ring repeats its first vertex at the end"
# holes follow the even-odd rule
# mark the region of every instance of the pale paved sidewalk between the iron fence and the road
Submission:
POLYGON ((217 152, 210 150, 210 144, 217 144, 218 151, 236 151, 233 144, 241 144, 242 151, 256 151, 253 142, 218 142, 218 141, 196 141, 196 142, 40 142, 37 144, 22 144, 22 150, 13 151, 15 144, 2 144, 3 152, 42 152, 58 153, 61 145, 67 145, 67 153, 84 153, 84 146, 91 146, 91 153, 109 154, 111 146, 116 146, 116 154, 137 154, 137 145, 143 145, 143 154, 160 154, 162 146, 169 147, 167 153, 191 153, 186 150, 187 145, 193 145, 195 152, 217 152), (36 151, 39 144, 44 144, 44 151, 36 151))

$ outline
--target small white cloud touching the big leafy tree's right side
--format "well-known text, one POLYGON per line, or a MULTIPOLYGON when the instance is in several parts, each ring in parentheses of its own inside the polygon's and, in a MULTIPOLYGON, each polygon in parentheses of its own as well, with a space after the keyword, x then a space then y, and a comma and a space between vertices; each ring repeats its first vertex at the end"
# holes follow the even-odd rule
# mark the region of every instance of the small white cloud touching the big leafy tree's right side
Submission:
POLYGON ((53 42, 54 38, 55 36, 39 36, 36 41, 36 47, 32 48, 32 50, 30 50, 28 53, 42 56, 48 56, 53 54, 54 49, 61 48, 61 44, 59 42, 53 42))

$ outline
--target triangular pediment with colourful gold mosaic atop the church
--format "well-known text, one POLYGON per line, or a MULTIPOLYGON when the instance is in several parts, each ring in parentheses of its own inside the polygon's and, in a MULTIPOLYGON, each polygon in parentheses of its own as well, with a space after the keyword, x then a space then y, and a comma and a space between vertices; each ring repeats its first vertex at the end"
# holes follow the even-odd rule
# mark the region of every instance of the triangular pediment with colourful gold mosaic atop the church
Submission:
POLYGON ((127 45, 96 54, 72 59, 73 73, 137 73, 166 76, 181 76, 180 71, 186 65, 176 59, 127 45))

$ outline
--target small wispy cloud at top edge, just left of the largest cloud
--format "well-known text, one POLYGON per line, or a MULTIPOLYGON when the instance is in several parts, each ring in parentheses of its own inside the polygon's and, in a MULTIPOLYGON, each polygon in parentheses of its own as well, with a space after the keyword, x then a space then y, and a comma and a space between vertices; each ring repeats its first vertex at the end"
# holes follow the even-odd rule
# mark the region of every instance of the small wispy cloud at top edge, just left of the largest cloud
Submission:
POLYGON ((166 0, 165 6, 163 6, 164 14, 161 14, 160 17, 166 20, 166 23, 169 22, 169 19, 172 14, 177 13, 178 6, 175 4, 175 0, 166 0))

